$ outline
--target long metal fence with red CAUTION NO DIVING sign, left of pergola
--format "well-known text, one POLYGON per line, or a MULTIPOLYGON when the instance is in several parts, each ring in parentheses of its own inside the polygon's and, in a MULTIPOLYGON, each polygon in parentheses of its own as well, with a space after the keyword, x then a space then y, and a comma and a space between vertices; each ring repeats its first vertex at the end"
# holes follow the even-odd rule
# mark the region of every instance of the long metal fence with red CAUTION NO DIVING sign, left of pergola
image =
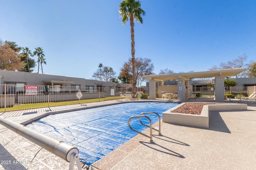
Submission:
POLYGON ((63 106, 120 99, 120 92, 140 92, 147 98, 149 88, 0 85, 0 111, 63 106), (78 93, 79 92, 79 93, 78 93))

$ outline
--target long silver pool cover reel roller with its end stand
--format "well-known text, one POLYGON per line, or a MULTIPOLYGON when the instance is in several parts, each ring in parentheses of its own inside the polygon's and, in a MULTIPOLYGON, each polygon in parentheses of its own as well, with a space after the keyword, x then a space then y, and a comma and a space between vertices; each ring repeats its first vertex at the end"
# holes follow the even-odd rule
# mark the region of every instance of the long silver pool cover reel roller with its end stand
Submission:
POLYGON ((74 169, 74 162, 76 162, 78 170, 82 170, 78 156, 79 151, 76 147, 64 143, 63 141, 48 137, 42 133, 38 133, 33 129, 25 127, 2 116, 0 116, 0 124, 35 143, 36 145, 39 145, 45 150, 48 150, 56 156, 66 160, 66 162, 70 162, 69 170, 74 169))

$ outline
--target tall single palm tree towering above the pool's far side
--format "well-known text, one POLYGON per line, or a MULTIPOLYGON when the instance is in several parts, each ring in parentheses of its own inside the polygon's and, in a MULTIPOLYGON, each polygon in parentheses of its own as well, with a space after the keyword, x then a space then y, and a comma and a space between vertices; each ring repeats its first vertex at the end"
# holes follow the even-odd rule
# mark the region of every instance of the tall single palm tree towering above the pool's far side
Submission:
POLYGON ((119 5, 119 14, 122 18, 122 24, 126 24, 128 19, 130 18, 130 26, 131 26, 131 46, 132 46, 132 87, 136 88, 137 80, 136 80, 136 70, 135 70, 135 41, 134 41, 134 21, 138 21, 139 23, 143 23, 141 14, 144 16, 146 13, 141 8, 141 4, 139 0, 123 0, 119 5))

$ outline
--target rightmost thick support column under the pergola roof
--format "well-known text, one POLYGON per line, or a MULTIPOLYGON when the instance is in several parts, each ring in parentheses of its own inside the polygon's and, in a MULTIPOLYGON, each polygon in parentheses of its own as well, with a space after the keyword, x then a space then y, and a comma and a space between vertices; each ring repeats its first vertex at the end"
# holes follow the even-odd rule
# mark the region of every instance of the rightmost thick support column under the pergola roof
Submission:
POLYGON ((224 77, 215 77, 215 101, 224 102, 224 77))

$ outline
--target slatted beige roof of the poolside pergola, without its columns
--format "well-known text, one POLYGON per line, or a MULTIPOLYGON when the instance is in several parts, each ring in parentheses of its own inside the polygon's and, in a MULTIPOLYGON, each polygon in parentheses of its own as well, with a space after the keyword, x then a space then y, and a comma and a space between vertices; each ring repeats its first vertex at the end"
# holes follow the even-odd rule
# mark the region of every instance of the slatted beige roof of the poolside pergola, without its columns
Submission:
POLYGON ((148 78, 149 80, 177 80, 179 78, 191 79, 191 78, 208 78, 208 77, 231 77, 236 76, 240 72, 245 71, 246 68, 230 68, 221 70, 209 70, 209 71, 199 71, 199 72, 182 72, 174 74, 155 74, 142 76, 143 78, 148 78))

